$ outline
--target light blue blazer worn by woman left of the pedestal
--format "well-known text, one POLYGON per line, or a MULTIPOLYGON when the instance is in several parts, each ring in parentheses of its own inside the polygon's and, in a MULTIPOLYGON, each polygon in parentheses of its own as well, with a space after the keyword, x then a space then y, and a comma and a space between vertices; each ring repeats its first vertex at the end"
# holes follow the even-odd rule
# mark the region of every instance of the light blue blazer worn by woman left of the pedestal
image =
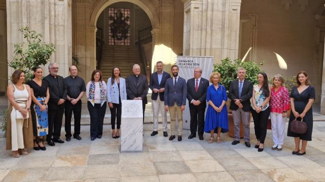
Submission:
POLYGON ((108 78, 107 80, 107 99, 108 102, 110 103, 115 103, 115 104, 120 104, 118 102, 118 96, 121 96, 121 100, 126 100, 126 84, 125 84, 125 79, 120 77, 120 92, 118 94, 118 86, 116 83, 116 79, 114 81, 114 84, 112 85, 111 82, 112 78, 108 78))

